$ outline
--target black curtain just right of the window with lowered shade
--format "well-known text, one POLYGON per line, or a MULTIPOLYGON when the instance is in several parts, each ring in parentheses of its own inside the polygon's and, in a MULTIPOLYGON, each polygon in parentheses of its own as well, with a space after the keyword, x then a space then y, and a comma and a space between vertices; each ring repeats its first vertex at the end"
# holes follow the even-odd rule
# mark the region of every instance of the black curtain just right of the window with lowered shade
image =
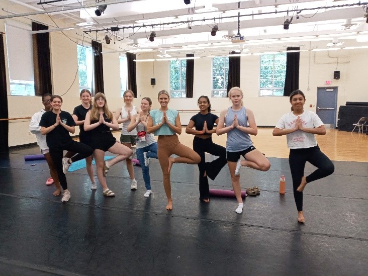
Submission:
MULTIPOLYGON (((32 22, 32 31, 48 30, 49 27, 32 22)), ((52 94, 49 33, 33 34, 33 74, 35 95, 52 94)))

